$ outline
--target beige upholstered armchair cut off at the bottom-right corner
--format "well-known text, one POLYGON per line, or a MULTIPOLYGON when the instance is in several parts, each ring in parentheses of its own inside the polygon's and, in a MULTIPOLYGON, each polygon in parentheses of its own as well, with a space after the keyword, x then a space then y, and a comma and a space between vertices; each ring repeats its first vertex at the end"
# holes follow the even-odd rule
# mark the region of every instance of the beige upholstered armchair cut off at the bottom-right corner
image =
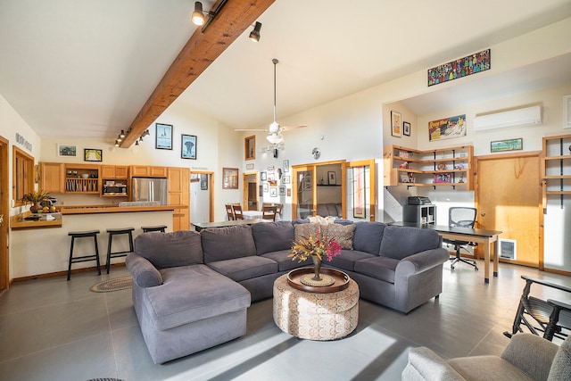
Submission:
POLYGON ((426 347, 413 348, 403 380, 571 379, 571 339, 559 347, 542 337, 514 335, 501 356, 443 360, 426 347))

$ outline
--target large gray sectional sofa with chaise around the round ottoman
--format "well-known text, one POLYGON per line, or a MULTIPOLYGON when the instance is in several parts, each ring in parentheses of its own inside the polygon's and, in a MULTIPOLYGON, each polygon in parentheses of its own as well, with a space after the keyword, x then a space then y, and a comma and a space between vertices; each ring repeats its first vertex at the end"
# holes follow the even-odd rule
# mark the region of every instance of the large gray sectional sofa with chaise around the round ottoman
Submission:
MULTIPOLYGON (((337 220, 319 226, 343 245, 324 266, 341 269, 360 297, 408 313, 442 292, 449 258, 433 230, 337 220)), ((133 304, 155 363, 202 351, 245 334, 251 302, 272 296, 288 271, 310 266, 287 255, 292 241, 318 228, 308 220, 145 233, 126 265, 133 304)))

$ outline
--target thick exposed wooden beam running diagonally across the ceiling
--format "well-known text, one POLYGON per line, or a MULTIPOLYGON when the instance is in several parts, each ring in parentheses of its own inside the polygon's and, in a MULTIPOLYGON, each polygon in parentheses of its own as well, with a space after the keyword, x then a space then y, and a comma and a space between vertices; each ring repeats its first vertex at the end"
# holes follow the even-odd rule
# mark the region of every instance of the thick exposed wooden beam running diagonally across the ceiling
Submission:
MULTIPOLYGON (((178 95, 181 95, 274 1, 228 0, 204 32, 202 27, 197 28, 138 112, 120 146, 128 148, 133 145, 178 95)), ((212 9, 216 9, 219 3, 220 1, 214 4, 212 9)))

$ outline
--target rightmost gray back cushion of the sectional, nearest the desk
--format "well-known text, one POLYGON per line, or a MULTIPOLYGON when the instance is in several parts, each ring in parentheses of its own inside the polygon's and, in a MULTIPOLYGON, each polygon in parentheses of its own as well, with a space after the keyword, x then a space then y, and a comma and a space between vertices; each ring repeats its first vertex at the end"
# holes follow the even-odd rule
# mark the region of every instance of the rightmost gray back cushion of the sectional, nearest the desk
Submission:
POLYGON ((380 255, 401 260, 409 255, 435 249, 441 238, 435 230, 387 226, 383 232, 380 255))

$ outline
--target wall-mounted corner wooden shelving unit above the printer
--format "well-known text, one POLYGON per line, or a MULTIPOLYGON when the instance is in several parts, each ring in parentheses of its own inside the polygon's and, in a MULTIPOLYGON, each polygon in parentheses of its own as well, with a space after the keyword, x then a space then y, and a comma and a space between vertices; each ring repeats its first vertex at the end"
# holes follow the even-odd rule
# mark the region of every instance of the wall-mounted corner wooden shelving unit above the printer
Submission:
POLYGON ((472 145, 420 151, 385 145, 385 186, 464 186, 474 189, 472 145))

